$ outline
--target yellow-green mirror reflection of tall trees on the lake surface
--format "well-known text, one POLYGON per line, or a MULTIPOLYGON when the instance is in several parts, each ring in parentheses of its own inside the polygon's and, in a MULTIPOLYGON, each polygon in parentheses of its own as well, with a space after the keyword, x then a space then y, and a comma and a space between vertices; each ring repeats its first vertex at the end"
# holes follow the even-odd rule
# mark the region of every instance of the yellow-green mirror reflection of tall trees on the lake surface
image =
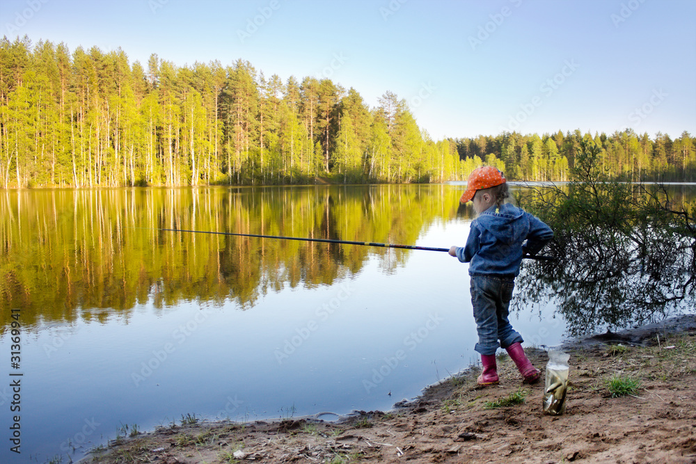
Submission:
MULTIPOLYGON (((331 285, 389 250, 164 232, 214 230, 413 244, 456 214, 448 186, 4 191, 0 194, 1 323, 101 320, 150 299, 250 307, 266 291, 331 285)), ((408 251, 391 250, 393 266, 408 251)))

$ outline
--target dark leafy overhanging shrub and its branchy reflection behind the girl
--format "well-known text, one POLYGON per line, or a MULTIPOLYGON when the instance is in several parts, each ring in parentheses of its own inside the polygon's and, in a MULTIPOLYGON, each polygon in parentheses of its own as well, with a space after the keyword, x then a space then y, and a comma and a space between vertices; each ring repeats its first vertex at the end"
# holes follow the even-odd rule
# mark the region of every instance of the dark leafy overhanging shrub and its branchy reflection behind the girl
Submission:
POLYGON ((565 189, 530 189, 521 202, 551 225, 552 263, 525 263, 517 305, 553 298, 571 335, 646 323, 696 301, 693 194, 624 184, 599 172, 583 147, 565 189))

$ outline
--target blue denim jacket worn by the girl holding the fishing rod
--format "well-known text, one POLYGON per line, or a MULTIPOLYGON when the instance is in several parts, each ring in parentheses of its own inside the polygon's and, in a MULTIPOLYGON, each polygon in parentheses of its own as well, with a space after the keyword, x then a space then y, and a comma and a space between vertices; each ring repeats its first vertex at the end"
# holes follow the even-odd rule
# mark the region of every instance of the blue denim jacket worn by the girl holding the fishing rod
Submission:
POLYGON ((553 231, 535 216, 505 203, 495 205, 471 221, 466 246, 457 248, 457 258, 470 262, 470 275, 515 278, 522 255, 535 255, 553 239, 553 231))

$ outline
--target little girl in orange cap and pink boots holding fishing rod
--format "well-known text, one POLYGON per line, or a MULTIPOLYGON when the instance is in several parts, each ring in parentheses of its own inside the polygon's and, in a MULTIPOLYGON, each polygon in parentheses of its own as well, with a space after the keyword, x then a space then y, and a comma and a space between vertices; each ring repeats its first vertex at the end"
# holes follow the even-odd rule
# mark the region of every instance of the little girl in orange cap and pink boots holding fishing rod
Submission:
POLYGON ((450 248, 450 255, 470 263, 471 303, 479 337, 474 349, 481 354, 483 366, 479 385, 498 383, 499 346, 507 350, 525 383, 535 383, 541 374, 528 360, 523 339, 508 320, 509 304, 523 255, 539 252, 553 238, 553 231, 506 203, 508 196, 503 173, 492 166, 475 169, 459 201, 473 201, 478 216, 471 223, 466 246, 450 248))

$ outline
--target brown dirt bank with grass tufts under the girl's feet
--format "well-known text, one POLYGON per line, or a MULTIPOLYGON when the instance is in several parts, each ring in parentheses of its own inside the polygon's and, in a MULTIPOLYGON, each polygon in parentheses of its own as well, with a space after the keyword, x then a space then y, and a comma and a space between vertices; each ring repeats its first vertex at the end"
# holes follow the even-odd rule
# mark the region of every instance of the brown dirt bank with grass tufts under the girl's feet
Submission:
MULTIPOLYGON (((573 385, 559 417, 541 411, 543 383, 522 385, 505 356, 496 387, 477 388, 474 368, 388 413, 363 412, 340 422, 172 426, 119 440, 85 461, 696 463, 696 317, 565 349, 573 385), (615 376, 638 380, 640 387, 612 397, 607 381, 615 376), (487 408, 487 402, 519 392, 523 403, 487 408)), ((546 352, 532 351, 530 359, 543 369, 546 352)))

